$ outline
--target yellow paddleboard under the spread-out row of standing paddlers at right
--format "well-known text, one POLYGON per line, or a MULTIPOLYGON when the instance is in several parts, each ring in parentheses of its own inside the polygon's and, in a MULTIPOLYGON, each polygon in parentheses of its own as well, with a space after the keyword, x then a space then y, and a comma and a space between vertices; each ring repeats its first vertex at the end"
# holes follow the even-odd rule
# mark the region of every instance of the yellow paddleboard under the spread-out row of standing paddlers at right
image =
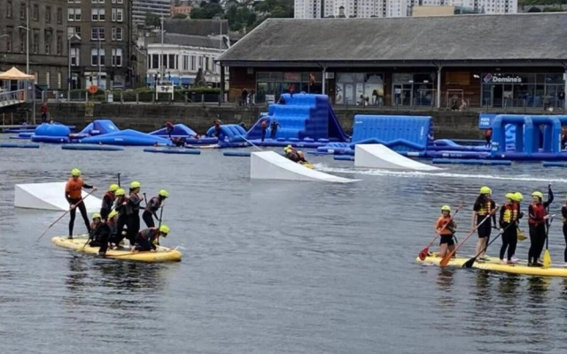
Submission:
MULTIPOLYGON (((473 256, 470 256, 472 258, 473 256)), ((470 258, 453 258, 449 261, 447 266, 462 267, 470 258)), ((427 257, 423 261, 416 258, 416 262, 430 265, 439 265, 442 258, 427 257)), ((526 266, 525 263, 517 263, 516 265, 501 265, 499 258, 490 257, 487 261, 480 263, 475 262, 473 268, 484 269, 487 271, 513 273, 535 276, 549 276, 549 277, 562 277, 567 278, 567 267, 549 267, 543 268, 538 266, 526 266)))

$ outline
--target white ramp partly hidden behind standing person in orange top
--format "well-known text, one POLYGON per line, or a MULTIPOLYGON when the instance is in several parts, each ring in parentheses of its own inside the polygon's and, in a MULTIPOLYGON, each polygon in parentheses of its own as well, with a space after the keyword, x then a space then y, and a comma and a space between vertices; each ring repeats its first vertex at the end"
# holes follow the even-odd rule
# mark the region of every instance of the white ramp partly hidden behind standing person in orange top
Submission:
MULTIPOLYGON (((17 208, 42 209, 65 212, 69 204, 65 198, 66 182, 16 184, 14 206, 17 208)), ((82 190, 82 196, 88 192, 82 190)), ((90 195, 84 199, 87 212, 99 212, 103 201, 90 195)))

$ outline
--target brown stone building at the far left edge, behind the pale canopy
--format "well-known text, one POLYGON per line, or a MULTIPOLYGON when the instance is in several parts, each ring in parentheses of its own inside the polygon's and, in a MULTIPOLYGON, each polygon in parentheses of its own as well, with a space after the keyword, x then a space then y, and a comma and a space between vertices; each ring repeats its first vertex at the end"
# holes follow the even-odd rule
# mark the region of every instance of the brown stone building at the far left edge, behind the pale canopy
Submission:
POLYGON ((17 66, 43 89, 66 89, 67 0, 0 1, 0 70, 17 66), (27 60, 27 53, 29 59, 27 60))

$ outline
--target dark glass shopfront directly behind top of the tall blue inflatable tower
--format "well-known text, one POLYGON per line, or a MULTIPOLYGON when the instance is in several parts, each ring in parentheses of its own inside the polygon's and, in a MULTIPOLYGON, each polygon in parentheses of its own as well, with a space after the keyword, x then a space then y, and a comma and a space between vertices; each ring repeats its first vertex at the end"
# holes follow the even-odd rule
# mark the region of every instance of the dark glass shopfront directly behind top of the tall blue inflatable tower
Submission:
POLYGON ((256 73, 256 103, 266 102, 266 95, 274 95, 276 102, 280 95, 289 91, 291 85, 295 92, 320 94, 322 90, 321 72, 258 72, 256 73))

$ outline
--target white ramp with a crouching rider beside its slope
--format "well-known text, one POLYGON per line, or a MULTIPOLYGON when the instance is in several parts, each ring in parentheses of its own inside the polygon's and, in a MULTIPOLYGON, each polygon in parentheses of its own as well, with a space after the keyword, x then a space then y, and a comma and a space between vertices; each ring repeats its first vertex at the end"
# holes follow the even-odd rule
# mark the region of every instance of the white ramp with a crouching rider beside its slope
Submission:
POLYGON ((327 181, 348 183, 359 180, 333 176, 299 165, 275 151, 252 152, 250 155, 250 178, 283 181, 327 181))

